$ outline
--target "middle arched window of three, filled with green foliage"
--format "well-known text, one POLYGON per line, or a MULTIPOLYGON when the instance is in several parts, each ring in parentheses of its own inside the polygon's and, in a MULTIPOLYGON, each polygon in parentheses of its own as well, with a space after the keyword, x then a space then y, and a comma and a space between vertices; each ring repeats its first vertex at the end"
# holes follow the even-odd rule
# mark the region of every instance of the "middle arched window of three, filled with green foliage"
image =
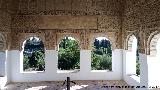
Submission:
POLYGON ((72 37, 65 37, 59 43, 58 69, 80 69, 80 48, 72 37))

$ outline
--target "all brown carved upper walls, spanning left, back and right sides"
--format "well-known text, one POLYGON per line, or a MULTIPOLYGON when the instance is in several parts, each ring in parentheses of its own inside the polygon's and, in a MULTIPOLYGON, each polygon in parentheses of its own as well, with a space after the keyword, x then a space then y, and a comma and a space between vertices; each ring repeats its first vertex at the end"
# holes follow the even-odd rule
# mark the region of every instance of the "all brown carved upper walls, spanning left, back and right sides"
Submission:
POLYGON ((90 48, 93 35, 127 49, 127 39, 134 34, 140 52, 150 54, 150 42, 160 31, 159 4, 160 0, 0 0, 0 32, 9 40, 7 49, 14 50, 32 35, 44 38, 47 49, 56 49, 64 35, 78 35, 82 49, 90 48))

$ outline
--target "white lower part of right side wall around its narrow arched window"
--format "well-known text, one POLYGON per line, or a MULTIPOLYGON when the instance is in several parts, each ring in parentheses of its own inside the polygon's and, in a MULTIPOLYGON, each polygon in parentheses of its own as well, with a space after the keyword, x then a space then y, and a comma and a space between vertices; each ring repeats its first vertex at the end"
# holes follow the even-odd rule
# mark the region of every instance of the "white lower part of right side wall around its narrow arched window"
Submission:
MULTIPOLYGON (((124 50, 123 51, 123 79, 125 82, 127 82, 131 86, 146 86, 148 87, 148 64, 147 64, 147 55, 145 54, 139 54, 140 59, 140 77, 136 75, 132 75, 132 71, 135 68, 132 63, 130 63, 133 58, 131 51, 124 50), (132 67, 130 67, 132 66, 132 67)), ((145 89, 138 89, 136 90, 147 90, 145 89)))

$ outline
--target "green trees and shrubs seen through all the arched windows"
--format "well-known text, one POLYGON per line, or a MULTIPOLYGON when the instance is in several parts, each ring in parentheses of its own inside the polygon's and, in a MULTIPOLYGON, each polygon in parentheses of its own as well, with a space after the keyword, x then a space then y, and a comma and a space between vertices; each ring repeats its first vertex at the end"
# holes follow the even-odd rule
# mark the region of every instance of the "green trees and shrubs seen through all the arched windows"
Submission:
MULTIPOLYGON (((24 47, 24 71, 44 71, 45 70, 45 51, 43 42, 32 37, 26 40, 24 47)), ((111 43, 107 39, 95 39, 91 53, 92 70, 112 70, 112 50, 111 43)), ((58 69, 73 70, 80 68, 80 48, 78 43, 70 39, 64 38, 59 44, 58 52, 58 69)), ((136 74, 140 75, 139 54, 137 51, 136 74)))

